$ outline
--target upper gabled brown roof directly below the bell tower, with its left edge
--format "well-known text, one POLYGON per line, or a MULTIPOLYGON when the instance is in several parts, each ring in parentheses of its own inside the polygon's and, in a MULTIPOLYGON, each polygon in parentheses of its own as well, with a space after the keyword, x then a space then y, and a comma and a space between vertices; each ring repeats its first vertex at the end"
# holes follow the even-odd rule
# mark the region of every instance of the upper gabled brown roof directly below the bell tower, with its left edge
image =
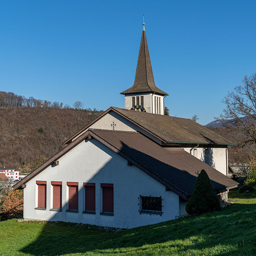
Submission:
POLYGON ((76 134, 67 139, 63 144, 68 144, 72 139, 77 137, 84 130, 88 129, 88 127, 110 111, 118 113, 166 144, 199 143, 234 145, 221 135, 216 134, 205 126, 201 126, 191 119, 151 114, 147 112, 122 109, 119 107, 110 107, 83 129, 79 130, 76 134))

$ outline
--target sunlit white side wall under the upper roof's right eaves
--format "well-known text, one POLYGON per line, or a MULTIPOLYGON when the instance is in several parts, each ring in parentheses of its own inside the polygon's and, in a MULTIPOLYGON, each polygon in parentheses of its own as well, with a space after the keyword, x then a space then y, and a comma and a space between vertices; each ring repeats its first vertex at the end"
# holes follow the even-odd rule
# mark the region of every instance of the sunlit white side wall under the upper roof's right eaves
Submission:
MULTIPOLYGON (((182 147, 185 151, 190 153, 191 147, 182 147)), ((205 162, 205 149, 206 148, 197 148, 197 158, 205 162)), ((209 165, 219 172, 227 175, 228 168, 228 154, 226 148, 207 148, 209 149, 209 165)), ((194 155, 194 150, 192 150, 192 155, 194 155)))

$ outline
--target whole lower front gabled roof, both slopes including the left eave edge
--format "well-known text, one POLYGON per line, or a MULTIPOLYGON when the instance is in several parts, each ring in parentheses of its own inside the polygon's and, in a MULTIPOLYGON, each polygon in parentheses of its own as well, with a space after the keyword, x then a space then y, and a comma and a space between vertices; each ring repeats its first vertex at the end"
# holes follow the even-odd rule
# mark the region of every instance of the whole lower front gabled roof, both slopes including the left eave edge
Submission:
POLYGON ((196 172, 201 169, 205 169, 207 172, 216 192, 237 186, 236 182, 184 150, 163 148, 139 132, 89 129, 45 164, 15 184, 13 188, 24 187, 25 183, 31 178, 42 172, 53 161, 58 160, 87 137, 88 139, 94 138, 106 145, 109 149, 121 155, 128 162, 140 168, 185 200, 192 194, 197 178, 196 172))

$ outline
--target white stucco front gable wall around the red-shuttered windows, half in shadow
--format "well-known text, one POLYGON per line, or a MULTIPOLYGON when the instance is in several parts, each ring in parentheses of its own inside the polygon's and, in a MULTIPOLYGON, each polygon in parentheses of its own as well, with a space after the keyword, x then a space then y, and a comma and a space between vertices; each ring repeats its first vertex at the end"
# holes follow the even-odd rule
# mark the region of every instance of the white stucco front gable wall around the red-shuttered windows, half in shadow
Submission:
POLYGON ((180 215, 179 197, 135 166, 95 139, 86 140, 66 153, 59 165, 47 167, 24 188, 24 218, 32 220, 71 221, 92 225, 134 228, 175 219, 180 215), (36 180, 47 182, 46 210, 36 210, 36 180), (52 201, 51 181, 62 182, 62 211, 50 211, 52 201), (79 212, 67 210, 66 182, 78 182, 79 212), (83 213, 83 182, 96 183, 96 214, 83 213), (114 184, 114 216, 100 215, 100 183, 114 184), (162 196, 163 214, 139 214, 139 196, 162 196))

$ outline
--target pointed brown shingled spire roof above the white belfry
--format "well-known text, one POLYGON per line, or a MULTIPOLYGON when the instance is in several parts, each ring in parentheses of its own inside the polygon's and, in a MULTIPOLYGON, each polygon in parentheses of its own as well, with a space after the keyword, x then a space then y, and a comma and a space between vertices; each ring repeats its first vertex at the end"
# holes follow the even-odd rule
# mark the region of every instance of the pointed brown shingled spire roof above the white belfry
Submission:
POLYGON ((146 32, 143 23, 142 36, 140 41, 139 58, 136 68, 134 85, 120 94, 132 94, 140 92, 156 92, 162 95, 168 95, 168 93, 160 90, 155 86, 150 56, 149 47, 147 46, 146 32))

